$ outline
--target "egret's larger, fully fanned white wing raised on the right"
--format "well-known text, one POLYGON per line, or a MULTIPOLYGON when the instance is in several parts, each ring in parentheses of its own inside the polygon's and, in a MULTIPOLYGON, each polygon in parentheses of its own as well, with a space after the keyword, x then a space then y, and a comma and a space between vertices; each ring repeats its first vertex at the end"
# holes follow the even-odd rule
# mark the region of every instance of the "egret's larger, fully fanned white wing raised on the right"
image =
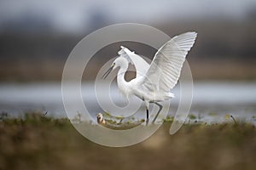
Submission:
POLYGON ((144 86, 151 90, 169 92, 177 84, 183 62, 195 42, 196 35, 196 32, 186 32, 166 42, 154 54, 143 82, 144 86))

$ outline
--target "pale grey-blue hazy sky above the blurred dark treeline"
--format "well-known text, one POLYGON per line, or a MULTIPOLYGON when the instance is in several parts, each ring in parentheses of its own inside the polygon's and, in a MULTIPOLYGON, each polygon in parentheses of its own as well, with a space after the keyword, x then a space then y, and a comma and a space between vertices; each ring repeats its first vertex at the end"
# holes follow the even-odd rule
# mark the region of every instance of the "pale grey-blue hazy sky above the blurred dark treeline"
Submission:
POLYGON ((90 25, 95 15, 113 22, 145 24, 207 16, 241 20, 249 8, 256 9, 255 0, 0 0, 0 24, 22 14, 38 14, 52 20, 55 27, 77 31, 90 25))

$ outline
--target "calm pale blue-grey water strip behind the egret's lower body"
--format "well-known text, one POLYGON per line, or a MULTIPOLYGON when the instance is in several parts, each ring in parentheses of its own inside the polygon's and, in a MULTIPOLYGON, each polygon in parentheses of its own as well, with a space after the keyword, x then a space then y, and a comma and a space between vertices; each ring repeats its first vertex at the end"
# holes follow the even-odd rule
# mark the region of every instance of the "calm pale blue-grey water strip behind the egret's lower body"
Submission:
MULTIPOLYGON (((69 93, 72 93, 72 88, 69 93)), ((173 93, 177 98, 171 100, 171 116, 178 104, 178 86, 173 93)), ((82 95, 84 105, 93 117, 102 112, 94 83, 84 82, 82 95)), ((116 105, 125 105, 116 86, 113 86, 111 96, 116 105)), ((137 102, 137 99, 131 99, 131 102, 137 102)), ((0 84, 0 112, 20 116, 26 111, 48 111, 49 116, 67 116, 62 103, 61 83, 0 84)), ((255 122, 256 82, 195 82, 190 113, 206 122, 222 120, 225 114, 255 122)))

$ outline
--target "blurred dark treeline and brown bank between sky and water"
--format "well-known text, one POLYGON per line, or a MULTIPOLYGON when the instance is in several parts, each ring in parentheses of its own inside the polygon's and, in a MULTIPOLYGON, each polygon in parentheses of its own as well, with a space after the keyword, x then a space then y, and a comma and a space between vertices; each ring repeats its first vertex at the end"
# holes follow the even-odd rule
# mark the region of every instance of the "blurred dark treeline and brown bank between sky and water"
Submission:
MULTIPOLYGON (((256 20, 170 22, 154 27, 170 37, 185 31, 198 32, 195 46, 188 56, 195 79, 256 79, 256 20)), ((89 33, 0 33, 0 82, 60 81, 68 55, 89 33)), ((138 42, 109 44, 90 59, 83 79, 94 80, 102 65, 117 56, 120 45, 149 59, 153 59, 156 52, 156 49, 138 42)))

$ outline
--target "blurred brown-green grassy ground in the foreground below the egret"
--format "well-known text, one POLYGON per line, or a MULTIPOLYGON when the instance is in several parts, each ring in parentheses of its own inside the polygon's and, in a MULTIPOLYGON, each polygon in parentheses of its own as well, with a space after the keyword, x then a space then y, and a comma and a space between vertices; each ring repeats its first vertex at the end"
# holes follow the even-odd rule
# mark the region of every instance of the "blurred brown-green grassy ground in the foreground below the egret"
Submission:
POLYGON ((0 169, 254 169, 256 128, 250 124, 170 122, 143 143, 124 148, 94 144, 68 119, 27 114, 0 121, 0 169))

